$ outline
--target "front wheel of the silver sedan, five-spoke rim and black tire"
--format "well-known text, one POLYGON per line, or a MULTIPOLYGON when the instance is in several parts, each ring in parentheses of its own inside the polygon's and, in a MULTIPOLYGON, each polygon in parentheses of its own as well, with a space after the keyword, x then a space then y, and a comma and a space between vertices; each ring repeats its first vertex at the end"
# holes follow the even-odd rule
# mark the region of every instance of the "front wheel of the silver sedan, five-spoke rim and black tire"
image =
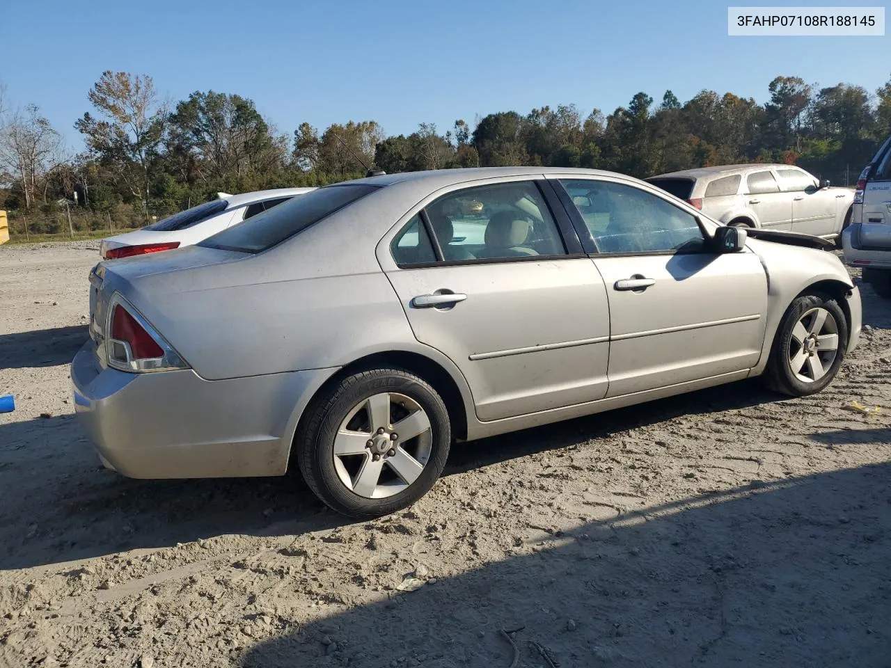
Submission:
POLYGON ((822 292, 796 297, 773 339, 765 384, 790 396, 820 392, 838 373, 847 339, 845 312, 833 297, 822 292))

